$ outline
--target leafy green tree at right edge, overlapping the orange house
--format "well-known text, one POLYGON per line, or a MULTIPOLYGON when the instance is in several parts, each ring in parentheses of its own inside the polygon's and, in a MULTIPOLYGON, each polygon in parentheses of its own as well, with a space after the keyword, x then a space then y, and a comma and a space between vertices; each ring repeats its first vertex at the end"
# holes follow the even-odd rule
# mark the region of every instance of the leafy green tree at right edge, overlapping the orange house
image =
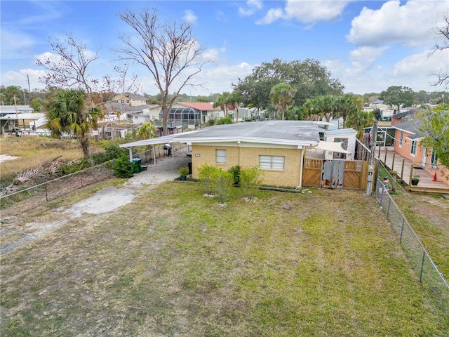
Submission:
POLYGON ((431 147, 441 164, 449 168, 449 104, 441 104, 432 110, 417 112, 421 125, 420 132, 424 134, 422 143, 431 147))

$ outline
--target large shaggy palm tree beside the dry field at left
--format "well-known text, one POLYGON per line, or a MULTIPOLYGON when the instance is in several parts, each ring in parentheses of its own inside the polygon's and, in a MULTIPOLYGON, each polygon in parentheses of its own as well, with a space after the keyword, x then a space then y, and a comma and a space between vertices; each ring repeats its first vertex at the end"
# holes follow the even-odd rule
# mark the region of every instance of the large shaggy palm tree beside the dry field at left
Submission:
POLYGON ((51 135, 61 138, 62 133, 76 136, 81 144, 84 159, 91 156, 89 151, 89 134, 97 128, 98 119, 102 117, 99 107, 87 107, 88 95, 80 89, 61 90, 51 98, 46 112, 47 127, 51 135))

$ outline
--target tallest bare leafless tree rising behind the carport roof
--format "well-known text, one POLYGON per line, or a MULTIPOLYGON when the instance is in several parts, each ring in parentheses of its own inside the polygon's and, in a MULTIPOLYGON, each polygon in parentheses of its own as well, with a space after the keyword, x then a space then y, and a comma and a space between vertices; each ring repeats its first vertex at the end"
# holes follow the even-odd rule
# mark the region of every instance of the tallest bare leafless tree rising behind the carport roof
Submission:
POLYGON ((163 134, 167 135, 168 115, 177 95, 210 61, 200 60, 205 49, 192 37, 192 27, 187 23, 160 23, 155 8, 143 8, 137 14, 126 10, 120 18, 134 32, 121 34, 119 38, 126 46, 116 51, 121 60, 133 60, 152 74, 161 94, 163 134), (170 91, 174 95, 169 98, 170 91))

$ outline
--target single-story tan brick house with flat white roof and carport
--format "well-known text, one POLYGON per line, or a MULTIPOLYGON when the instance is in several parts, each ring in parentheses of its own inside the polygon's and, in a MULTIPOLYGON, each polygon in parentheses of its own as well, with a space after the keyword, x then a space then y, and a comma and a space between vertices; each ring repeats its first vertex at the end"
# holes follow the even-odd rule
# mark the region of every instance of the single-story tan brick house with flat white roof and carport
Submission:
POLYGON ((233 166, 259 166, 264 185, 301 187, 304 154, 319 144, 312 121, 255 121, 201 128, 196 131, 121 144, 185 143, 192 148, 192 176, 204 164, 227 171, 233 166))

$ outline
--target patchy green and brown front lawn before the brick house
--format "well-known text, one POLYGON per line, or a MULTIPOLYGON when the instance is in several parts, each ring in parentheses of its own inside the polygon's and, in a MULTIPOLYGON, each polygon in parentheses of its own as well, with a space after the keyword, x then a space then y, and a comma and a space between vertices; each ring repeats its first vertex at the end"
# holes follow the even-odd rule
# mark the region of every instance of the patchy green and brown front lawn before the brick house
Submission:
POLYGON ((448 336, 363 191, 202 193, 143 187, 4 256, 1 335, 448 336))

